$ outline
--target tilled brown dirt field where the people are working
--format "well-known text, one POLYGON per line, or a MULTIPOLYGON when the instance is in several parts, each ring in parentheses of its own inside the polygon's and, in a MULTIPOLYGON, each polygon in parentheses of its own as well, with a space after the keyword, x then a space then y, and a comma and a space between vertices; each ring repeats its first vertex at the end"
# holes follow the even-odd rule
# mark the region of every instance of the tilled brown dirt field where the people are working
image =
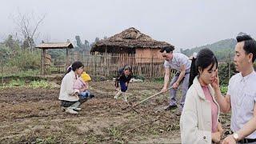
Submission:
MULTIPOLYGON (((59 88, 0 89, 0 143, 179 143, 177 110, 165 111, 168 94, 138 106, 136 113, 122 98, 115 100, 114 82, 92 82, 95 98, 78 115, 62 112, 59 88)), ((130 84, 128 101, 135 104, 158 93, 162 83, 130 84)), ((228 128, 229 115, 222 115, 228 128)))

